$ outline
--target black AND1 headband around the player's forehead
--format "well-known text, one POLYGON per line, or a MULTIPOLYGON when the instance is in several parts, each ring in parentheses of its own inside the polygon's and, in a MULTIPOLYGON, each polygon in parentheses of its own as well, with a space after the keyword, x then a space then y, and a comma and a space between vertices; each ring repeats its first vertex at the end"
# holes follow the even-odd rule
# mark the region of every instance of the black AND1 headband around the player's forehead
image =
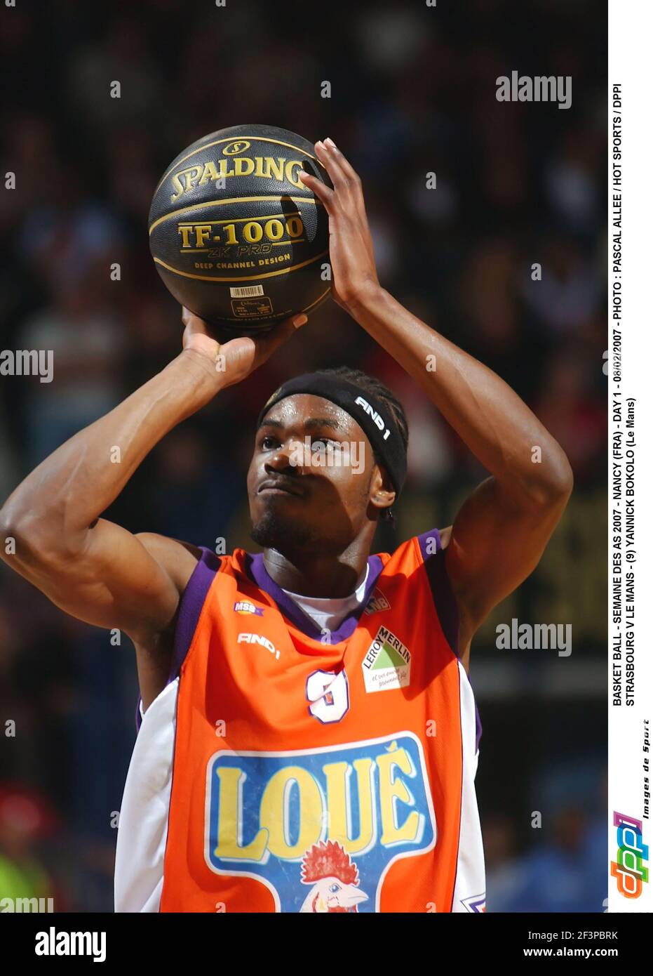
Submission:
POLYGON ((361 389, 349 380, 333 373, 304 373, 288 380, 267 401, 256 421, 256 429, 267 412, 280 400, 294 393, 313 393, 341 407, 365 430, 374 453, 388 471, 393 488, 399 493, 406 473, 406 451, 403 437, 394 413, 387 404, 369 390, 361 389))

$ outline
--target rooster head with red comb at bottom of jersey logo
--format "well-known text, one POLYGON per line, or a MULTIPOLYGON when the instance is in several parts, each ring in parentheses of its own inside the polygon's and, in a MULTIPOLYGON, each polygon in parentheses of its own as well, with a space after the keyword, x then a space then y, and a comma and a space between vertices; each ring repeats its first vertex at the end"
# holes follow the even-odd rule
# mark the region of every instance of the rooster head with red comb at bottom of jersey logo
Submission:
POLYGON ((313 844, 301 863, 303 884, 313 887, 300 912, 358 912, 367 896, 359 884, 359 872, 349 854, 337 841, 313 844))

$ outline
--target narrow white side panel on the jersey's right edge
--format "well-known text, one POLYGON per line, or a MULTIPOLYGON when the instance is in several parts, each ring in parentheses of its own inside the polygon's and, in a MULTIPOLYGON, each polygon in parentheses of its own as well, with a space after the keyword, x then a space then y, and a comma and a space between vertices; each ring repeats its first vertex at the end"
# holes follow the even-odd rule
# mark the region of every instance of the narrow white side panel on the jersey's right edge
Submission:
POLYGON ((463 793, 460 806, 460 841, 452 912, 485 911, 485 863, 474 780, 479 765, 476 749, 476 704, 467 672, 460 674, 460 722, 463 740, 463 793))

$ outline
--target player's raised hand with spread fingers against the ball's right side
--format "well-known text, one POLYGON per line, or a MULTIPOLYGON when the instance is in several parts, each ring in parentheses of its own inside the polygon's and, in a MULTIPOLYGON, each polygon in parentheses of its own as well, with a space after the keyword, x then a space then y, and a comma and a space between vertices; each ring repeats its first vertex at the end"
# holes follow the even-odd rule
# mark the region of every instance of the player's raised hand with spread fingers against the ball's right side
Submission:
POLYGON ((315 143, 316 155, 327 170, 333 189, 317 177, 299 173, 302 183, 322 200, 328 214, 331 295, 350 309, 378 289, 361 178, 330 139, 315 143))

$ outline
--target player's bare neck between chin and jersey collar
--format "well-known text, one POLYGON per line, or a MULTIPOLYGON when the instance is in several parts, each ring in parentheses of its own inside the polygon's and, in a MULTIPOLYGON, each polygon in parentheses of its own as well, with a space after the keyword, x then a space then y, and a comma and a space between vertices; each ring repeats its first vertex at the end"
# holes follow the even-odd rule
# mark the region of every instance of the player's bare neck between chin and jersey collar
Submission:
POLYGON ((302 596, 349 596, 365 577, 368 551, 360 545, 339 554, 292 555, 265 549, 265 568, 278 587, 302 596))

